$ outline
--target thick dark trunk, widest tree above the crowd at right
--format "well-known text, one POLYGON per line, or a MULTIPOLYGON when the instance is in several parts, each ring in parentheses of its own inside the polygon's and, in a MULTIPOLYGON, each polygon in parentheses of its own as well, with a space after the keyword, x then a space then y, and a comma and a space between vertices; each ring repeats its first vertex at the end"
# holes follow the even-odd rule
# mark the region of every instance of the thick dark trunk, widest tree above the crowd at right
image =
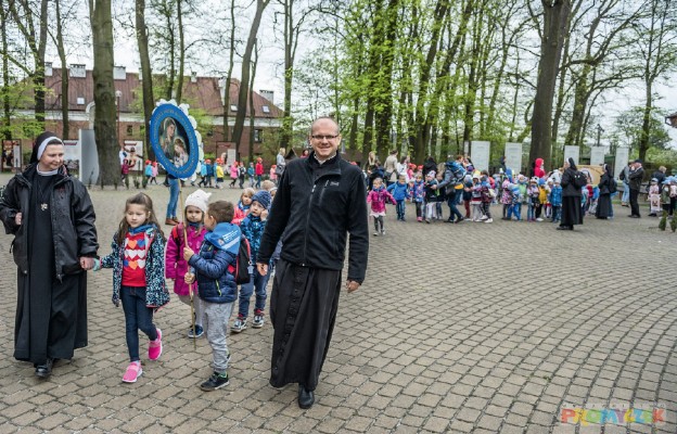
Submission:
POLYGON ((544 31, 538 62, 538 79, 532 116, 532 148, 529 162, 541 157, 546 167, 552 166, 550 142, 552 140, 552 103, 560 66, 562 47, 566 37, 566 23, 571 12, 570 0, 542 0, 544 31))

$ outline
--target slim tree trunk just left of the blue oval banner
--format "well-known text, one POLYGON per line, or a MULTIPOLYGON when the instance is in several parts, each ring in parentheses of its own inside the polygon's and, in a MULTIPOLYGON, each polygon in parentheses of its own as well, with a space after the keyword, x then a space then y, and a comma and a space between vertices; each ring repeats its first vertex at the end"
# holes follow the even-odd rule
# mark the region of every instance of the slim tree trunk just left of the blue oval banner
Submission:
MULTIPOLYGON (((144 128, 144 155, 148 159, 155 159, 155 152, 151 146, 151 116, 155 108, 155 98, 153 97, 153 71, 149 54, 148 26, 145 25, 145 0, 136 0, 135 4, 137 24, 137 43, 139 44, 139 63, 141 64, 141 91, 143 92, 143 122, 144 128)), ((143 177, 145 183, 145 177, 143 177)))

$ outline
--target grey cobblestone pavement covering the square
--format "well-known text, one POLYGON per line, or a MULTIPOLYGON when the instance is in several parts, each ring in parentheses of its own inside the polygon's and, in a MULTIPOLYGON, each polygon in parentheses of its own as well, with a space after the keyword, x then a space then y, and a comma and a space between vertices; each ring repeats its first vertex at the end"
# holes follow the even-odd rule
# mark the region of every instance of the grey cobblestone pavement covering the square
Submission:
MULTIPOLYGON (((168 191, 148 192, 164 217, 168 191)), ((130 193, 91 190, 101 254, 130 193)), ((229 336, 230 385, 202 392, 210 349, 204 339, 193 349, 190 310, 174 294, 155 317, 162 358, 143 360, 136 384, 122 383, 128 359, 111 270, 89 276, 89 346, 38 380, 12 357, 16 271, 11 237, 0 235, 0 432, 675 433, 677 234, 615 212, 570 232, 500 219, 418 224, 411 206, 399 222, 388 208, 386 234, 371 235, 365 284, 342 296, 316 405, 305 411, 294 385, 268 385, 269 323, 229 336), (562 424, 575 407, 659 408, 665 422, 562 424)))

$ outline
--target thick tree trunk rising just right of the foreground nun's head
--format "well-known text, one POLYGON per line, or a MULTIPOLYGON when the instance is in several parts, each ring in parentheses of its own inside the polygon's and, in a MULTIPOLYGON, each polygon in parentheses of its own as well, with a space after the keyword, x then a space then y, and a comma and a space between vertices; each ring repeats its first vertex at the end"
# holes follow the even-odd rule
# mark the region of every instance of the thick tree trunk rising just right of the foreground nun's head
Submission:
POLYGON ((120 180, 118 137, 115 123, 115 85, 113 81, 113 18, 111 0, 89 0, 94 68, 94 137, 99 151, 99 180, 115 186, 120 180))

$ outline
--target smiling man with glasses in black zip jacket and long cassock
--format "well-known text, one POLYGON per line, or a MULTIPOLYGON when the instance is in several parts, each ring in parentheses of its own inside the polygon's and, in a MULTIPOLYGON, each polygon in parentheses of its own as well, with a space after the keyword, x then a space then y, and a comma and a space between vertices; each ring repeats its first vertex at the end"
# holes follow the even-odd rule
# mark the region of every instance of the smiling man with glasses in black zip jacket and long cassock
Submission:
POLYGON ((290 162, 279 181, 256 256, 258 272, 266 275, 282 241, 270 295, 270 384, 298 383, 304 409, 315 403, 336 320, 347 234, 348 293, 365 279, 369 252, 362 171, 338 155, 338 125, 330 117, 316 119, 309 140, 310 155, 290 162))

